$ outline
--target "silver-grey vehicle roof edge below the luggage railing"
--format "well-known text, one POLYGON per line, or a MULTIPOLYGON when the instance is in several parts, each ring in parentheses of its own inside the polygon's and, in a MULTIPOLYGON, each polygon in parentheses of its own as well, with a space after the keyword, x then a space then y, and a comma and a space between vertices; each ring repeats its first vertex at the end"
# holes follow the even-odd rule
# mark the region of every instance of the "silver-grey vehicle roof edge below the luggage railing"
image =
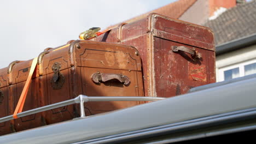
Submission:
POLYGON ((0 137, 0 143, 74 143, 256 107, 256 78, 0 137))

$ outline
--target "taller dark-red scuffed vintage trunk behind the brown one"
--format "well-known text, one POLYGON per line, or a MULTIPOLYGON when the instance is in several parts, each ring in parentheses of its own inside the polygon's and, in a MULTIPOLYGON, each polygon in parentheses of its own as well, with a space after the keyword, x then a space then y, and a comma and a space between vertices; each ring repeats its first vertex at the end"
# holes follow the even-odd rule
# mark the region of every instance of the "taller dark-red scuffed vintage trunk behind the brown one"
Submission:
POLYGON ((215 46, 210 28, 153 13, 142 20, 121 23, 92 40, 138 49, 145 96, 172 97, 192 87, 216 82, 215 46))

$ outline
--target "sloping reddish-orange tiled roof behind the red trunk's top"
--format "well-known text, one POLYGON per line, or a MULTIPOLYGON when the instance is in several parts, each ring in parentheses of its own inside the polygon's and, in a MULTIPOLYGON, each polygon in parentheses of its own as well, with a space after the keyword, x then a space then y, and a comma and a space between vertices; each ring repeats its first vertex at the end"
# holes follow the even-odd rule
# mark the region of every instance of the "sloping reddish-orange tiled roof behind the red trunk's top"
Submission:
MULTIPOLYGON (((172 17, 174 19, 178 19, 196 1, 197 0, 179 0, 179 1, 167 4, 164 7, 149 11, 146 14, 142 14, 142 15, 139 15, 137 17, 133 17, 132 19, 126 20, 124 22, 131 23, 133 21, 141 20, 144 17, 147 17, 147 15, 150 14, 150 13, 158 13, 158 14, 161 14, 161 15, 172 17)), ((117 27, 118 25, 119 25, 119 23, 117 25, 109 26, 108 29, 117 27)))

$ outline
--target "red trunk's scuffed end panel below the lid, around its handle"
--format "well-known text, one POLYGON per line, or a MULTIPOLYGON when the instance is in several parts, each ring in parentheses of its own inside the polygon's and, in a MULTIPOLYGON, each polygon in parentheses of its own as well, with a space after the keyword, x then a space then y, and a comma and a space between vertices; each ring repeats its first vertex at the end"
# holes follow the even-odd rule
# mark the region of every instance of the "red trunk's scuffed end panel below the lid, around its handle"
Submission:
POLYGON ((214 64, 211 64, 213 51, 195 47, 196 51, 202 53, 201 59, 194 60, 190 54, 185 52, 173 52, 171 46, 190 45, 176 43, 166 39, 154 38, 154 64, 155 87, 158 97, 170 97, 187 93, 192 87, 206 85, 214 82, 214 64), (211 58, 210 58, 211 57, 211 58))

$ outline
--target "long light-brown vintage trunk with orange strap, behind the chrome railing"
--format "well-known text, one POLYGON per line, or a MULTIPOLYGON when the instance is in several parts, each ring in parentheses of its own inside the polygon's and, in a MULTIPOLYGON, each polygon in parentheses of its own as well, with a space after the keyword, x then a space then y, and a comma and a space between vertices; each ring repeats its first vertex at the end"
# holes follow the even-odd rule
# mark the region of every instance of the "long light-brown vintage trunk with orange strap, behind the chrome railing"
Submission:
MULTIPOLYGON (((1 117, 13 114, 31 63, 32 59, 15 61, 9 68, 0 69, 0 107, 4 110, 0 112, 1 117)), ((79 94, 143 96, 141 57, 135 47, 75 40, 55 49, 45 49, 38 56, 23 111, 72 99, 79 94)), ((142 103, 90 102, 85 103, 85 114, 89 116, 142 103)), ((0 123, 0 135, 69 120, 79 116, 78 109, 78 105, 68 105, 0 123)))

